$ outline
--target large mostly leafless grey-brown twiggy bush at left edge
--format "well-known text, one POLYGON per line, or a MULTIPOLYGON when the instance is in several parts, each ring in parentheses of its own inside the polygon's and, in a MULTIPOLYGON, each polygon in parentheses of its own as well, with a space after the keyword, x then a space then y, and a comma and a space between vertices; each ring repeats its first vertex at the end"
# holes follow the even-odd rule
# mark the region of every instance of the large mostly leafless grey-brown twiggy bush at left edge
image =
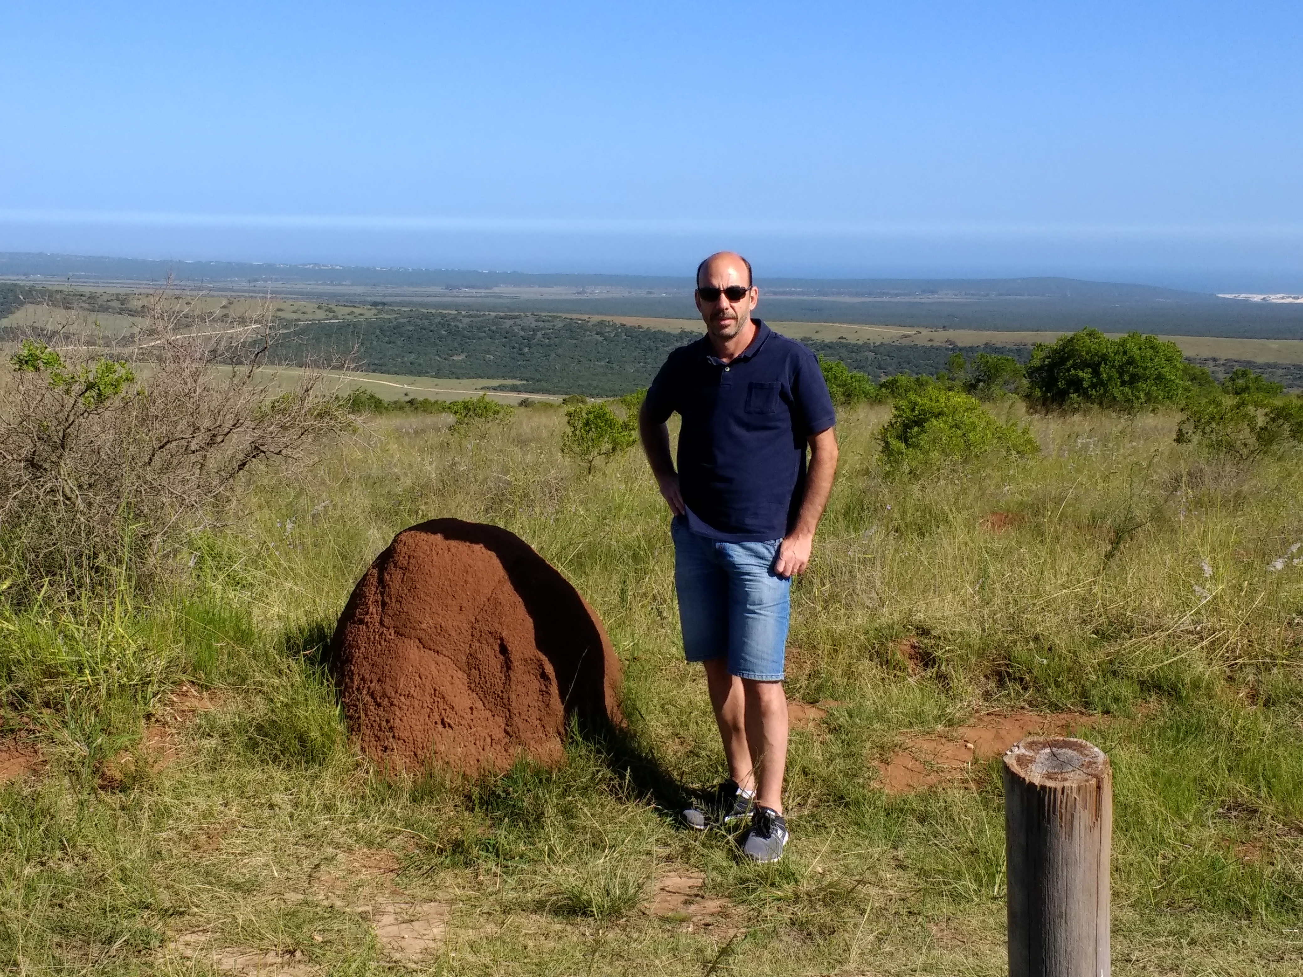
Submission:
POLYGON ((112 339, 47 330, 9 358, 0 547, 21 586, 152 578, 250 466, 300 459, 347 423, 323 370, 268 365, 270 298, 232 317, 165 288, 142 318, 112 339))

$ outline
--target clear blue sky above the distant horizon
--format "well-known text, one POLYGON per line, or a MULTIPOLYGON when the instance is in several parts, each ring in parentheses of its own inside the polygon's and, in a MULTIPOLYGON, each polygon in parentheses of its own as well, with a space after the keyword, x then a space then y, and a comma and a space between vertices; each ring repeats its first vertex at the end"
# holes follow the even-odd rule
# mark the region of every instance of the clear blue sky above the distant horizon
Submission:
POLYGON ((1303 289, 1303 3, 0 5, 0 250, 1303 289))

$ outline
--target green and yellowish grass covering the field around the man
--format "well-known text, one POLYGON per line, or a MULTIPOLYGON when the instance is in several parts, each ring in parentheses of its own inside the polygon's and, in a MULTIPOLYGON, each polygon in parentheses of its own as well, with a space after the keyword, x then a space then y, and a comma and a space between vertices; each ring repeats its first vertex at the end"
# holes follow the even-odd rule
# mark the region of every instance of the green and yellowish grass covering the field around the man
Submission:
POLYGON ((885 417, 842 417, 839 481, 794 586, 788 694, 838 705, 792 735, 782 864, 743 865, 665 809, 723 761, 680 658, 645 462, 584 477, 556 410, 469 434, 380 418, 250 486, 173 591, 0 617, 4 726, 47 758, 0 787, 4 968, 212 972, 182 952, 201 934, 302 973, 1003 973, 997 763, 971 787, 887 796, 874 761, 911 732, 1027 707, 1106 718, 1115 973, 1296 973, 1303 565, 1269 569, 1303 541, 1296 460, 1227 469, 1174 444, 1171 416, 1101 413, 1031 418, 1038 457, 906 481, 874 456, 885 417), (1009 528, 982 529, 992 512, 1009 528), (351 750, 319 650, 370 559, 433 516, 519 533, 601 612, 627 741, 576 736, 556 770, 478 782, 386 780, 351 750), (184 681, 215 707, 176 726, 163 762, 146 727, 184 681), (124 750, 138 759, 106 778, 124 750), (380 888, 356 868, 367 852, 394 862, 380 888), (675 873, 722 908, 650 914, 675 873), (394 890, 447 907, 431 955, 379 941, 394 890))

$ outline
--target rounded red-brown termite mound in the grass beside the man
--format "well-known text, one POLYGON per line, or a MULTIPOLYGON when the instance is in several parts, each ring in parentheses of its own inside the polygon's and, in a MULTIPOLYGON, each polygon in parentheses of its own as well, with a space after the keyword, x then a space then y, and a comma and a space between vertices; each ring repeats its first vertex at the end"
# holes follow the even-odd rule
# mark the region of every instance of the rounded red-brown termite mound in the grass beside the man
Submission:
POLYGON ((569 715, 623 722, 602 621, 498 526, 437 518, 399 533, 353 589, 331 658, 349 728, 388 769, 555 763, 569 715))

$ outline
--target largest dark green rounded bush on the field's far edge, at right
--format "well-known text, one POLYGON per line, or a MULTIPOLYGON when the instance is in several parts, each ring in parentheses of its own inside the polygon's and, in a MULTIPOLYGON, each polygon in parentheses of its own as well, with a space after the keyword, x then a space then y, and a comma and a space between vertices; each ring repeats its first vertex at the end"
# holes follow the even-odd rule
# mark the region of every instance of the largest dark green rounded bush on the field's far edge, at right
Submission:
POLYGON ((1188 386, 1177 344, 1139 332, 1109 339, 1087 328, 1037 343, 1027 367, 1028 399, 1045 408, 1139 410, 1175 404, 1188 386))

